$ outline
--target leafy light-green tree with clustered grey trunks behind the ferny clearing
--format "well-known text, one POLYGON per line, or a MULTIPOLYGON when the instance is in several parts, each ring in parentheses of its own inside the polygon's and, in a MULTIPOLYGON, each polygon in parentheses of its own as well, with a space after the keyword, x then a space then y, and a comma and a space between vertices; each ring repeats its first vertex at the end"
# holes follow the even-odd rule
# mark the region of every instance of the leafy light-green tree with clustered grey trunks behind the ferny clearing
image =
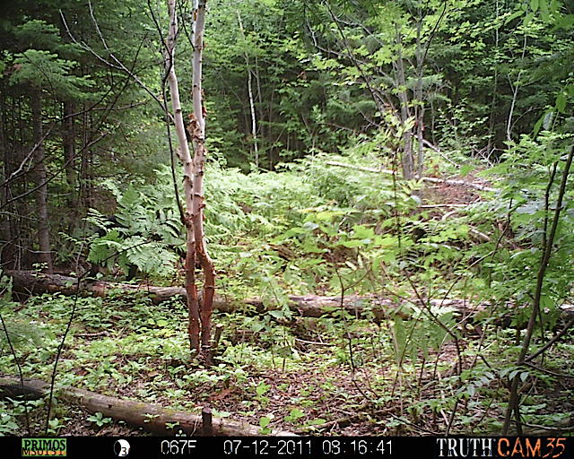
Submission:
POLYGON ((387 132, 405 179, 422 174, 424 108, 441 82, 429 49, 445 17, 463 3, 365 2, 357 9, 326 0, 309 14, 309 35, 319 51, 315 65, 336 69, 353 88, 352 104, 368 132, 387 132), (375 109, 365 109, 367 98, 375 109))

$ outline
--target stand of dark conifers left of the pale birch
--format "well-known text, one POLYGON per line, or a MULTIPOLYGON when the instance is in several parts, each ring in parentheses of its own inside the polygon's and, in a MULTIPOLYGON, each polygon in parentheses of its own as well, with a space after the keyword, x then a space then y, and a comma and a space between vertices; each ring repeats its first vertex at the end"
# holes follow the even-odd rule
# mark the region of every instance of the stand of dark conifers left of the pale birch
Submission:
POLYGON ((83 217, 89 207, 105 213, 115 209, 113 196, 101 186, 104 179, 145 180, 152 165, 168 158, 159 135, 161 118, 145 107, 143 91, 122 69, 86 52, 106 53, 93 18, 109 31, 109 43, 121 42, 116 56, 143 79, 156 72, 144 46, 149 24, 131 1, 102 0, 93 10, 86 0, 5 6, 0 23, 1 264, 4 269, 48 265, 47 246, 52 245, 58 247, 51 251, 53 264, 82 273, 85 245, 74 241, 85 236, 83 217))

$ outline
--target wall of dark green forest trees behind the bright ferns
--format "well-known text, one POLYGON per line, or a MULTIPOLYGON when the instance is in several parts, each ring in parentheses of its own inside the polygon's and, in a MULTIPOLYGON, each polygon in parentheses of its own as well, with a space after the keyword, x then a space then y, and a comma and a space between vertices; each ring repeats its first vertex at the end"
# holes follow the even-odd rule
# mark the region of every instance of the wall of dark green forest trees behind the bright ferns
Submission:
MULTIPOLYGON (((182 88, 189 88, 192 73, 189 8, 184 2, 180 12, 182 88)), ((569 3, 267 0, 214 1, 209 8, 208 147, 212 158, 243 172, 344 152, 365 140, 391 162, 394 154, 401 160, 411 152, 422 169, 432 166, 422 141, 457 164, 473 157, 488 163, 500 159, 507 141, 518 142, 543 123, 570 129, 569 3)), ((74 257, 59 234, 85 237, 80 221, 90 208, 114 209, 106 178, 150 182, 157 164, 170 162, 165 115, 150 96, 162 98, 165 19, 142 2, 6 8, 0 30, 4 264, 38 262, 30 253, 38 247, 29 221, 44 162, 52 244, 63 247, 54 254, 57 264, 74 257), (30 89, 41 91, 41 117, 32 113, 30 89), (36 134, 41 156, 32 152, 36 134)), ((182 97, 191 111, 190 91, 182 97)))

